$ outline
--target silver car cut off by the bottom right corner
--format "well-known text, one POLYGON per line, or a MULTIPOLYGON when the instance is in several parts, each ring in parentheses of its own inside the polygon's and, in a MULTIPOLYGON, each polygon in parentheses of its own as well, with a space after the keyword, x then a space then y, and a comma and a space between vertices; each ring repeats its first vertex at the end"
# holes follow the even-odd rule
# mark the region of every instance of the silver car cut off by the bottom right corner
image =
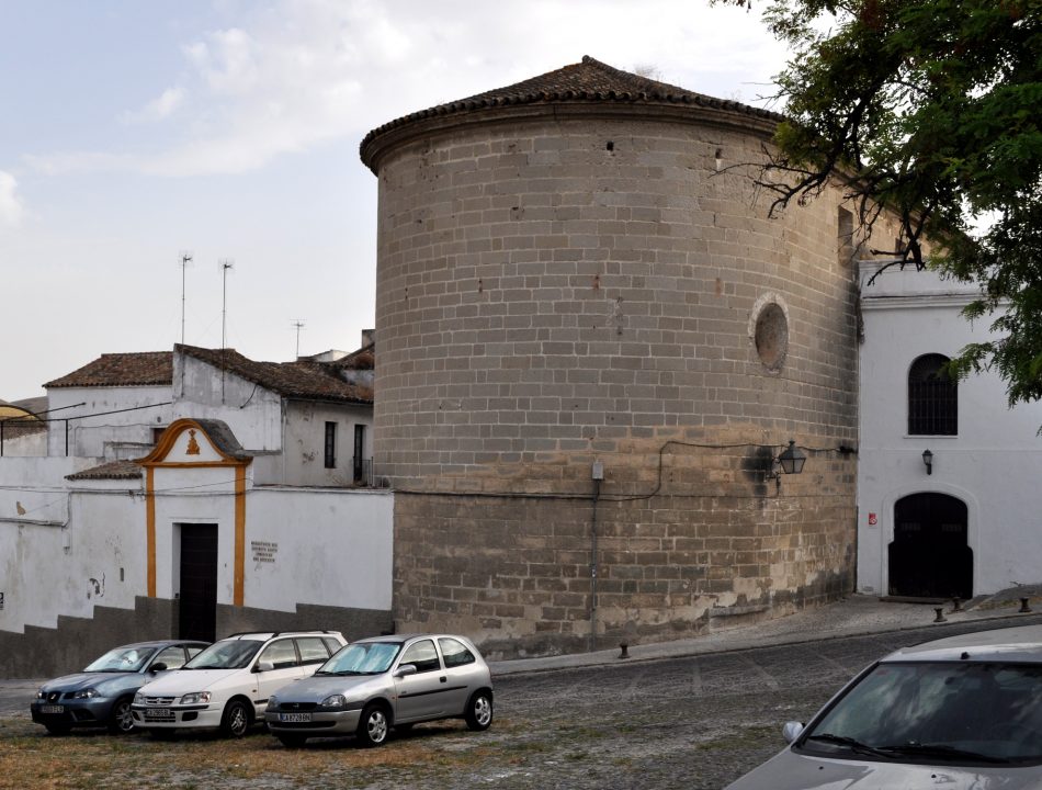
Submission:
POLYGON ((892 653, 727 790, 1042 790, 1042 625, 892 653))

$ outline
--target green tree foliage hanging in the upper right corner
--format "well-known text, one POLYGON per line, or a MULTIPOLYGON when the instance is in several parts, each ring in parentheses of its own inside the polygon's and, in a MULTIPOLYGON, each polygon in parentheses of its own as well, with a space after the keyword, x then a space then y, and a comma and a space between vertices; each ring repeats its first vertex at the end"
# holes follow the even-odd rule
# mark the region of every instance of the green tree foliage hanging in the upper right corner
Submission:
POLYGON ((983 286, 966 316, 995 339, 953 372, 1042 398, 1042 0, 770 0, 764 19, 791 52, 772 212, 829 181, 867 227, 895 212, 899 255, 983 286))

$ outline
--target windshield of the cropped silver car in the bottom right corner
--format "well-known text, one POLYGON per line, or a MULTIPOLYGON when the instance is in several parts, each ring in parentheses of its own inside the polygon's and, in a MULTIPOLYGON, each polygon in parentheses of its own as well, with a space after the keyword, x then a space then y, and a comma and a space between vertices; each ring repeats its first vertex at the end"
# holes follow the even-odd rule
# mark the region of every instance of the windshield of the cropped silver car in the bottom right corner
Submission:
POLYGON ((1042 763, 1042 667, 880 664, 800 736, 797 747, 905 763, 1042 763))

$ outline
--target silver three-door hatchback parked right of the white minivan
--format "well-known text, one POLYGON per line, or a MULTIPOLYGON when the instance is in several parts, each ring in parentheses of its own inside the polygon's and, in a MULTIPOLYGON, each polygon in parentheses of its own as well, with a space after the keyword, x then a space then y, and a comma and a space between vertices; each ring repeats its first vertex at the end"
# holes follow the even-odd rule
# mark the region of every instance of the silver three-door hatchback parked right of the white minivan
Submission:
POLYGON ((314 676, 268 700, 268 729, 285 746, 309 737, 356 735, 386 742, 392 727, 463 719, 471 730, 492 723, 488 665, 465 636, 412 634, 352 642, 314 676))

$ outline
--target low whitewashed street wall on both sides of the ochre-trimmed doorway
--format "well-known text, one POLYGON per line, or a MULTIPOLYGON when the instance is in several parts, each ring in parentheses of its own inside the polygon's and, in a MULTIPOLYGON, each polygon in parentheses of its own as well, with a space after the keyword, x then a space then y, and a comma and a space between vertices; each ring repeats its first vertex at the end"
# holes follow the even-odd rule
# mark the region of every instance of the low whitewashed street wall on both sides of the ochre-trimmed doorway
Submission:
MULTIPOLYGON (((159 471, 159 598, 172 599, 180 591, 177 524, 216 523, 217 602, 233 602, 231 492, 231 476, 224 470, 159 471)), ((36 507, 48 496, 38 495, 25 505, 36 507)), ((58 616, 90 618, 95 606, 133 609, 135 596, 147 592, 140 482, 84 482, 69 493, 56 489, 50 495, 48 508, 34 511, 50 522, 0 518, 0 632, 54 628, 58 616)), ((291 612, 298 603, 389 611, 389 492, 248 487, 246 496, 245 606, 291 612)), ((9 504, 0 499, 0 507, 9 504)))

